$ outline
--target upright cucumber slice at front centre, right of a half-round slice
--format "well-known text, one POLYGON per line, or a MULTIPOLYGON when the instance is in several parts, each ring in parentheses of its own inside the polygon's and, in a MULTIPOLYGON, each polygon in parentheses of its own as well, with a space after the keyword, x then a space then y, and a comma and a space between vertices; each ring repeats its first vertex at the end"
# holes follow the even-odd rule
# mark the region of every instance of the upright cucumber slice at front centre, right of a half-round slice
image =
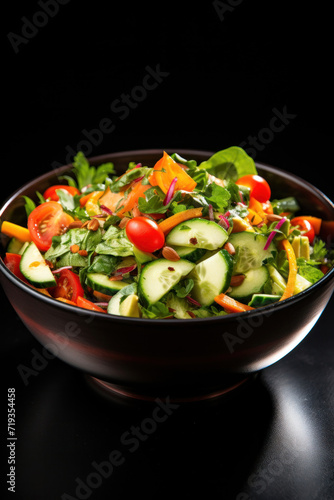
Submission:
POLYGON ((226 250, 220 250, 203 260, 189 275, 194 280, 191 297, 202 306, 210 306, 216 295, 229 287, 232 271, 233 259, 226 250))

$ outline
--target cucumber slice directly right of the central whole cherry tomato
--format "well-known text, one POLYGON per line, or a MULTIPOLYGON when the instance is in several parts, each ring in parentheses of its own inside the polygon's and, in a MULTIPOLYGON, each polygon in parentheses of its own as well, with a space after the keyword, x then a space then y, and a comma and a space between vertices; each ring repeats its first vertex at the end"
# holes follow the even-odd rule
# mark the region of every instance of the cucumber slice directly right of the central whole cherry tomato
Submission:
POLYGON ((166 245, 217 250, 227 239, 227 232, 217 222, 195 218, 175 226, 166 237, 166 245))

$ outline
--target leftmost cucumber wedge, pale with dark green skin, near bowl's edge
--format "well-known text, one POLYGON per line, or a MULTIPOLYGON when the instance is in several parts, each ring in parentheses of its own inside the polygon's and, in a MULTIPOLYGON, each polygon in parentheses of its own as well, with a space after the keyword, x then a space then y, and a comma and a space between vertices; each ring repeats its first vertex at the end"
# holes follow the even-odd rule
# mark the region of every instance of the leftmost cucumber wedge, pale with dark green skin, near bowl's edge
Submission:
POLYGON ((54 275, 34 242, 29 243, 23 252, 20 271, 36 288, 50 288, 57 285, 54 275))

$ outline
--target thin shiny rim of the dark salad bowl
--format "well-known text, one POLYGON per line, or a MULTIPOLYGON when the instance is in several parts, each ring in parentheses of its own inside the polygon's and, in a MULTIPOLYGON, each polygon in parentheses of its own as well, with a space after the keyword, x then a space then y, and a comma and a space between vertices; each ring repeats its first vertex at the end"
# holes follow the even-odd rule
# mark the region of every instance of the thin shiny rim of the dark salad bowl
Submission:
MULTIPOLYGON (((99 164, 105 162, 108 158, 110 161, 110 157, 114 157, 115 159, 118 158, 123 158, 126 156, 136 156, 136 155, 145 155, 145 154, 158 154, 160 155, 162 151, 176 151, 180 155, 207 155, 210 157, 211 155, 214 154, 212 151, 206 151, 206 150, 196 150, 196 149, 181 149, 181 148, 159 148, 159 149, 135 149, 135 150, 125 150, 125 151, 119 151, 119 152, 111 152, 111 153, 106 153, 106 154, 101 154, 97 156, 92 156, 92 157, 87 157, 89 162, 91 164, 99 164)), ((324 194, 320 189, 318 189, 316 186, 311 184, 310 182, 302 179, 298 175, 294 173, 287 172, 286 170, 283 170, 279 167, 274 167, 268 163, 265 162, 260 162, 256 161, 255 165, 258 167, 263 167, 266 171, 272 172, 272 173, 279 173, 283 178, 292 178, 294 181, 296 181, 298 184, 302 184, 313 191, 316 192, 318 196, 320 196, 325 202, 327 202, 331 208, 334 211, 334 203, 333 201, 326 195, 324 194)), ((2 213, 6 210, 7 206, 15 199, 17 198, 20 193, 30 186, 33 186, 36 182, 41 182, 45 179, 47 179, 51 173, 54 173, 55 175, 59 175, 63 173, 64 171, 68 170, 72 166, 72 163, 68 163, 66 165, 62 165, 60 167, 57 167, 55 169, 49 170, 48 172, 35 177, 31 181, 27 182, 26 184, 20 186, 17 190, 15 190, 1 205, 0 207, 0 218, 2 213)), ((52 297, 48 297, 47 295, 44 295, 37 290, 31 288, 28 284, 24 283, 21 281, 19 278, 17 278, 4 264, 3 259, 0 258, 0 270, 1 272, 9 279, 14 285, 18 286, 22 291, 30 293, 33 297, 40 299, 44 301, 46 304, 49 304, 54 307, 59 307, 60 309, 63 309, 64 311, 68 312, 77 312, 78 313, 78 306, 74 306, 71 304, 66 304, 61 301, 57 301, 53 299, 52 297)), ((285 299, 282 302, 276 302, 274 304, 268 304, 267 306, 263 306, 258 309, 250 310, 250 311, 244 311, 244 312, 238 312, 238 313, 230 313, 227 315, 222 315, 222 316, 212 316, 209 318, 189 318, 189 319, 177 319, 177 318, 171 318, 169 320, 166 319, 159 319, 159 318, 130 318, 127 316, 118 316, 118 315, 113 315, 113 314, 108 314, 108 313, 102 313, 99 311, 91 311, 91 310, 85 310, 83 308, 80 308, 80 315, 92 315, 97 316, 100 318, 110 318, 107 321, 112 321, 112 322, 117 322, 117 323, 134 323, 140 324, 148 322, 148 324, 156 324, 156 325, 161 325, 161 324, 166 324, 166 321, 172 321, 172 324, 193 324, 194 322, 197 323, 208 323, 208 322, 213 322, 216 323, 218 322, 223 322, 224 320, 226 321, 227 318, 230 319, 237 319, 237 318, 246 318, 246 317, 251 317, 255 316, 257 314, 263 314, 263 315, 268 315, 273 311, 279 311, 281 309, 285 309, 286 307, 289 307, 290 305, 299 302, 300 300, 303 300, 303 297, 306 297, 307 295, 310 295, 313 293, 314 290, 317 288, 321 287, 322 284, 329 282, 332 278, 334 278, 334 267, 328 271, 319 281, 311 285, 310 287, 306 288, 302 292, 299 292, 297 295, 294 295, 292 297, 289 297, 285 299)), ((223 324, 223 323, 222 323, 223 324)))

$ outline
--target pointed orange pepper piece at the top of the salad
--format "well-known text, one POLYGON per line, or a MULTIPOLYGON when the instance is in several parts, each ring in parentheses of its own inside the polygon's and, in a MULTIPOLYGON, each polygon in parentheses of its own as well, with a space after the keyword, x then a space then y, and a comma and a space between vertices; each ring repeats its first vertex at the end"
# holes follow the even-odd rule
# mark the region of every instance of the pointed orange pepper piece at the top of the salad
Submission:
POLYGON ((176 191, 193 191, 197 185, 190 175, 164 151, 162 158, 154 165, 149 182, 152 186, 159 186, 166 194, 175 177, 177 177, 176 191))

